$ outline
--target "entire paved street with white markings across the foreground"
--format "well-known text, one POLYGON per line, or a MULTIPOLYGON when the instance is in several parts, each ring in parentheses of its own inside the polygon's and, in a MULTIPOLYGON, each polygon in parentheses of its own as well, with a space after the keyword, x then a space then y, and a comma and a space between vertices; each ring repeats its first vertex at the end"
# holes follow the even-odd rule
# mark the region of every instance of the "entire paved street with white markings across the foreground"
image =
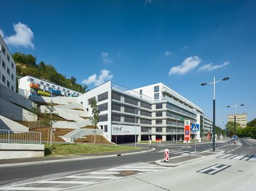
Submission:
MULTIPOLYGON (((232 140, 226 143, 217 142, 216 151, 218 152, 207 158, 201 156, 203 156, 205 150, 211 149, 211 143, 197 144, 196 154, 194 153, 194 145, 164 145, 165 143, 162 143, 161 145, 153 144, 152 148, 154 150, 144 153, 80 158, 79 160, 58 162, 48 161, 41 164, 31 163, 22 166, 1 166, 0 187, 1 190, 73 190, 73 188, 78 190, 98 190, 103 186, 104 190, 108 190, 105 184, 110 185, 110 187, 116 187, 115 184, 118 184, 119 189, 117 190, 136 190, 135 186, 138 186, 139 190, 139 185, 142 186, 140 190, 146 190, 146 187, 144 187, 146 185, 145 182, 153 181, 151 184, 147 183, 147 186, 155 184, 164 190, 176 190, 178 188, 181 189, 182 181, 184 180, 190 187, 197 185, 195 181, 199 179, 200 186, 203 184, 207 186, 211 181, 207 176, 214 176, 214 179, 218 179, 216 181, 219 185, 227 181, 236 180, 236 182, 239 182, 237 179, 241 178, 241 174, 243 176, 250 174, 248 175, 249 177, 242 177, 247 182, 250 178, 255 179, 252 169, 255 169, 256 165, 256 146, 255 143, 243 139, 240 140, 240 143, 241 145, 234 145, 232 140), (179 158, 189 158, 189 156, 197 156, 198 158, 195 158, 191 163, 175 168, 155 164, 154 161, 163 161, 163 150, 165 148, 170 150, 170 161, 178 161, 179 158), (228 176, 225 181, 225 176, 222 177, 224 171, 229 173, 229 175, 225 174, 228 176), (170 184, 170 176, 172 177, 172 184, 170 184), (150 179, 150 177, 154 177, 154 180, 150 179), (132 181, 133 184, 131 182, 127 183, 127 181, 132 181), (103 182, 104 184, 99 184, 103 182), (129 185, 129 187, 122 187, 124 185, 129 185)), ((150 187, 149 190, 155 189, 150 187)))

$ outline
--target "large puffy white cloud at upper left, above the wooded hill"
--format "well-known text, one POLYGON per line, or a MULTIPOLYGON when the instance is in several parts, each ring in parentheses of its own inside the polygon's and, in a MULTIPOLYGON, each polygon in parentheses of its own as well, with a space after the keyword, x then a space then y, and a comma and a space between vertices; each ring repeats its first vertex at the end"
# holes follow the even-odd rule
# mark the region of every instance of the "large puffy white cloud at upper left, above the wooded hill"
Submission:
POLYGON ((15 29, 15 34, 9 37, 5 37, 5 43, 9 44, 10 46, 24 46, 25 48, 33 48, 34 44, 32 40, 34 38, 34 34, 28 25, 22 24, 18 22, 17 24, 13 25, 15 29))

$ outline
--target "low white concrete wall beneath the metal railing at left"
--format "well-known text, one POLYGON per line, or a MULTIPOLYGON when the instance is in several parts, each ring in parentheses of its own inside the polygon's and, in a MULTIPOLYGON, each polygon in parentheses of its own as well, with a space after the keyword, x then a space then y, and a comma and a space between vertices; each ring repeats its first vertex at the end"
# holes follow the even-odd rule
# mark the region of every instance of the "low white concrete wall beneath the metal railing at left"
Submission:
POLYGON ((44 145, 0 143, 0 159, 44 156, 44 145))

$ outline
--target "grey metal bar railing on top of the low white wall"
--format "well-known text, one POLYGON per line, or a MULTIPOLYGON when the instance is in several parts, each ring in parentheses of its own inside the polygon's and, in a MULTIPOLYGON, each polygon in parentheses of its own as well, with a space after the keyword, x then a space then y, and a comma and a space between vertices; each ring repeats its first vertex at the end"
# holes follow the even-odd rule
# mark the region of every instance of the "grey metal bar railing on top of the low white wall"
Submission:
POLYGON ((0 130, 0 143, 38 143, 41 144, 41 132, 23 132, 0 130))

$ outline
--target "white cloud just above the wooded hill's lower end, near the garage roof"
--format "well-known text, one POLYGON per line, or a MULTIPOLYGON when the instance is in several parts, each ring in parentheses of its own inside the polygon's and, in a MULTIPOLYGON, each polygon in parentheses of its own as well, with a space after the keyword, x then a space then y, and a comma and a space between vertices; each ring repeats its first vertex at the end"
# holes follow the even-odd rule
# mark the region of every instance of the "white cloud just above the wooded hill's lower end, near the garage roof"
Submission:
POLYGON ((85 85, 94 84, 94 85, 98 86, 98 85, 102 85, 104 82, 111 80, 113 77, 114 77, 113 75, 110 75, 109 70, 102 69, 99 77, 97 77, 96 74, 91 75, 87 79, 83 80, 82 83, 85 85))

